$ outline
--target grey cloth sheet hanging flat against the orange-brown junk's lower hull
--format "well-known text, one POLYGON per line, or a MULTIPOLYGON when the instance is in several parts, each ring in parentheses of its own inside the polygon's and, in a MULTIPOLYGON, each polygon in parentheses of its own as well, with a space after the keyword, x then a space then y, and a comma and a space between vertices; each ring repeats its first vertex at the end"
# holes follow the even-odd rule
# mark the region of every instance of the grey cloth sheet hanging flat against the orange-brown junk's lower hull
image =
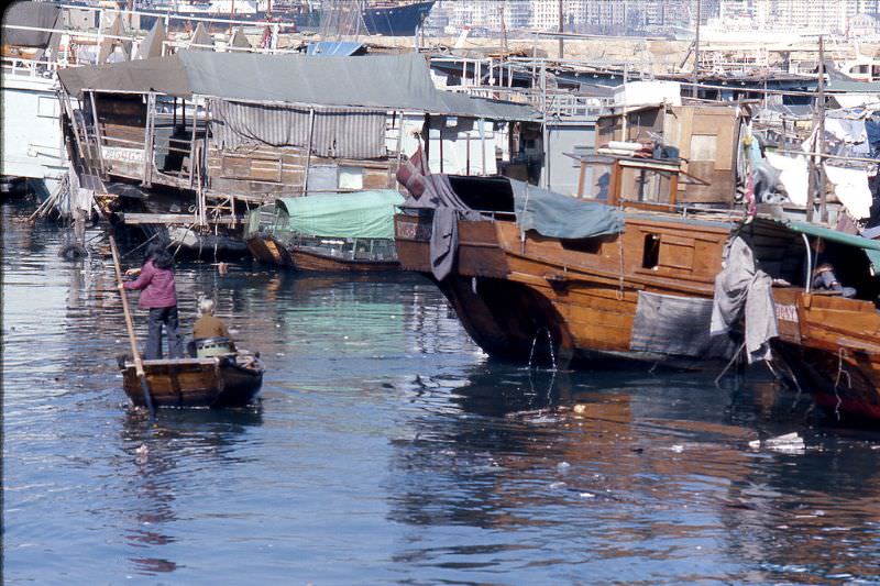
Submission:
POLYGON ((712 306, 712 299, 639 291, 629 347, 694 358, 732 355, 728 336, 710 336, 712 306))

